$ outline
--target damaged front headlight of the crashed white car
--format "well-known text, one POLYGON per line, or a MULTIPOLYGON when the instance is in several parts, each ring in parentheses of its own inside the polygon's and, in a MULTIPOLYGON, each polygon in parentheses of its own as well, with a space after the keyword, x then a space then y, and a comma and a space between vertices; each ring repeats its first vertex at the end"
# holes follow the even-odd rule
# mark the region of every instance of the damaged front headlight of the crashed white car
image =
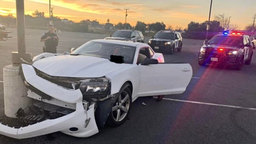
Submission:
POLYGON ((80 91, 83 98, 105 98, 109 92, 110 83, 106 78, 93 78, 82 81, 80 91))

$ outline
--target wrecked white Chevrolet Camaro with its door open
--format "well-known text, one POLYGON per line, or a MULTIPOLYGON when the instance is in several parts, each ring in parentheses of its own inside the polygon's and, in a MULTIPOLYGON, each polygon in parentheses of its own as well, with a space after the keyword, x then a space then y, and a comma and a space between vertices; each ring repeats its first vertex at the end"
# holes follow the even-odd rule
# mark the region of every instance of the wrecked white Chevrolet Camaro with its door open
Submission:
POLYGON ((23 127, 0 124, 0 134, 24 139, 60 131, 89 137, 106 123, 123 124, 138 97, 183 93, 192 68, 164 62, 148 44, 92 40, 70 54, 42 53, 22 64, 20 75, 33 99, 31 112, 18 115, 23 127))

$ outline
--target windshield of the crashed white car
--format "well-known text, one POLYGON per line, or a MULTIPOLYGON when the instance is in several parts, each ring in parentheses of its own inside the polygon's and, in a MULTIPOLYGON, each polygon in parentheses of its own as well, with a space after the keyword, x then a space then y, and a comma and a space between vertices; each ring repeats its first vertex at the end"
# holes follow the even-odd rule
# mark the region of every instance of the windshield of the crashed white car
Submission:
POLYGON ((110 55, 124 56, 124 63, 132 64, 136 47, 102 42, 88 42, 71 52, 71 55, 87 55, 110 59, 110 55))

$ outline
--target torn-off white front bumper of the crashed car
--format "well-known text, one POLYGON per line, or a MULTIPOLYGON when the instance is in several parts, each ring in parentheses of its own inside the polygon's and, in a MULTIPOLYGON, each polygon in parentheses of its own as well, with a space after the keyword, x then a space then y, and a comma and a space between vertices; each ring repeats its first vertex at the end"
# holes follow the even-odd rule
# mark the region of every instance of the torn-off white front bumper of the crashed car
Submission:
POLYGON ((22 64, 21 76, 28 87, 28 97, 74 112, 20 128, 0 124, 0 134, 8 137, 24 139, 58 131, 75 137, 92 136, 103 128, 115 101, 109 97, 98 103, 87 102, 79 89, 69 90, 53 84, 37 76, 31 65, 22 64))

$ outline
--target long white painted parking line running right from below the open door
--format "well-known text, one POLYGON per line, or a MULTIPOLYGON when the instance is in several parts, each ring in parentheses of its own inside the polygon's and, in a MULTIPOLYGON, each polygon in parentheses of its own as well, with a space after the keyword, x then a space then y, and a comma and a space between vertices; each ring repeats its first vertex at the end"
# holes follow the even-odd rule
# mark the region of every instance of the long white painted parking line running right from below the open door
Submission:
MULTIPOLYGON (((154 97, 154 98, 157 99, 157 97, 154 97)), ((221 106, 221 107, 229 107, 229 108, 241 108, 241 109, 256 110, 256 108, 247 108, 247 107, 240 107, 240 106, 222 105, 222 104, 198 102, 198 101, 190 101, 190 100, 177 100, 177 99, 169 99, 169 98, 163 98, 163 100, 180 101, 180 102, 188 102, 188 103, 196 103, 196 104, 212 105, 212 106, 221 106)))

